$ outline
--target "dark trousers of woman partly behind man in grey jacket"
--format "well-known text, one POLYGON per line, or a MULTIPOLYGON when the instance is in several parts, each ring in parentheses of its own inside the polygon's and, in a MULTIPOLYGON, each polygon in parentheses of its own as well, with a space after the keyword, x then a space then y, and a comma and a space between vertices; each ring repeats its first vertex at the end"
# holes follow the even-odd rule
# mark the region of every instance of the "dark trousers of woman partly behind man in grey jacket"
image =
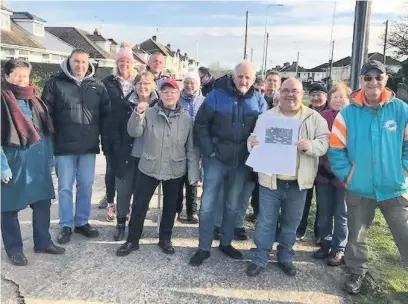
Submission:
POLYGON ((129 167, 123 178, 115 178, 116 186, 116 218, 118 224, 124 224, 126 222, 126 216, 129 213, 130 200, 135 191, 136 179, 139 172, 140 158, 131 158, 129 167))

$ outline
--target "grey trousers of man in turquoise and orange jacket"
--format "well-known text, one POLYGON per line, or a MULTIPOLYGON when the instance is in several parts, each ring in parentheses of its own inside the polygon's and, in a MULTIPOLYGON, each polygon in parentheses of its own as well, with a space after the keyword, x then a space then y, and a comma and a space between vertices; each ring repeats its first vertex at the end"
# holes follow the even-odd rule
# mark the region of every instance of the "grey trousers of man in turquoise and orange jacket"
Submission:
POLYGON ((350 273, 367 272, 367 232, 374 220, 375 210, 380 208, 390 228, 401 261, 408 265, 408 193, 386 201, 363 198, 347 192, 349 240, 344 260, 350 273))

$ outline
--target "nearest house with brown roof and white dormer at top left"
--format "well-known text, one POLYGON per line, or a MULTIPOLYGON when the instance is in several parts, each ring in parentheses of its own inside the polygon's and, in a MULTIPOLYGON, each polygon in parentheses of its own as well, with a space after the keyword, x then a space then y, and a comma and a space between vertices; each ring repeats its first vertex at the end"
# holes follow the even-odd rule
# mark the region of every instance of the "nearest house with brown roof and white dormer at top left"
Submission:
POLYGON ((1 59, 60 63, 73 47, 45 31, 47 22, 28 12, 13 12, 1 6, 1 59))

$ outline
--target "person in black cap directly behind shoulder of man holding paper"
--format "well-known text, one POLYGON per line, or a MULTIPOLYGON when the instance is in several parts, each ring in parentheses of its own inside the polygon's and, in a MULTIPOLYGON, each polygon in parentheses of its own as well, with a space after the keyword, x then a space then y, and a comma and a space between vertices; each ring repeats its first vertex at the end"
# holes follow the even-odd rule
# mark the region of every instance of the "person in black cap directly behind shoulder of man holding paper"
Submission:
MULTIPOLYGON (((309 90, 309 97, 310 97, 310 106, 309 108, 321 113, 324 110, 329 109, 329 104, 327 102, 327 88, 320 82, 315 82, 312 84, 309 90)), ((303 216, 302 220, 300 221, 299 227, 296 232, 296 236, 298 239, 303 239, 306 233, 306 228, 307 228, 307 221, 309 217, 309 211, 310 211, 310 206, 312 205, 312 200, 313 200, 313 192, 314 192, 314 186, 312 189, 309 189, 306 194, 306 202, 305 202, 305 208, 303 210, 303 216)), ((319 206, 316 205, 316 217, 315 217, 315 222, 314 222, 314 227, 313 227, 313 232, 314 232, 314 237, 316 240, 316 243, 320 243, 320 237, 319 237, 319 222, 318 222, 318 217, 319 217, 319 206)))

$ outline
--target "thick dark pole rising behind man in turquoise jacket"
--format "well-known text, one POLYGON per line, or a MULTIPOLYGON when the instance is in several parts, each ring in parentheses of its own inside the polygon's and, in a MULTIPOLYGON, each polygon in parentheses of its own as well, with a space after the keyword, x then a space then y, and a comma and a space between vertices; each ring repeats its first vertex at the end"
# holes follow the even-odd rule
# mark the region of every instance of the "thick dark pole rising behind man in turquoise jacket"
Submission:
POLYGON ((351 52, 351 75, 350 85, 352 90, 359 88, 359 74, 363 66, 364 49, 366 45, 367 27, 368 27, 368 2, 356 1, 354 13, 354 31, 353 31, 353 46, 351 52))

